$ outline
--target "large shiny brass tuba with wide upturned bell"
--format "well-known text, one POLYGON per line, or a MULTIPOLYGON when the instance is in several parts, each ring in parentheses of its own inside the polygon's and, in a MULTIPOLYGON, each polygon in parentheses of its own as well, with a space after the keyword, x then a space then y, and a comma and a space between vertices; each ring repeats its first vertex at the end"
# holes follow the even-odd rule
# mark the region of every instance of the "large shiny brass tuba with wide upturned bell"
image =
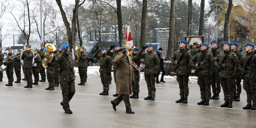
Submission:
POLYGON ((52 52, 56 51, 56 47, 53 44, 45 44, 46 52, 44 53, 44 59, 42 60, 42 65, 46 69, 47 63, 51 63, 54 57, 52 52))

